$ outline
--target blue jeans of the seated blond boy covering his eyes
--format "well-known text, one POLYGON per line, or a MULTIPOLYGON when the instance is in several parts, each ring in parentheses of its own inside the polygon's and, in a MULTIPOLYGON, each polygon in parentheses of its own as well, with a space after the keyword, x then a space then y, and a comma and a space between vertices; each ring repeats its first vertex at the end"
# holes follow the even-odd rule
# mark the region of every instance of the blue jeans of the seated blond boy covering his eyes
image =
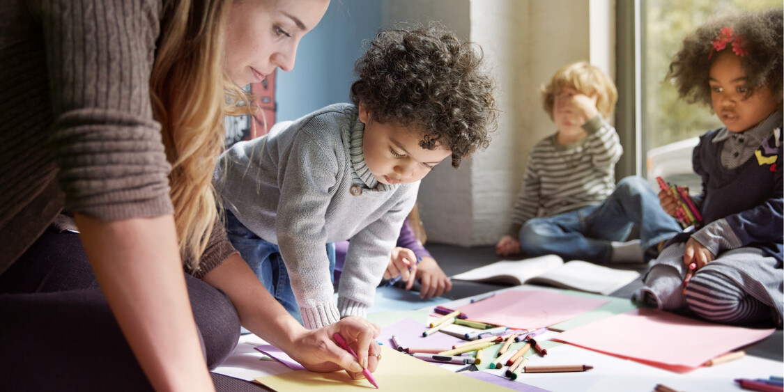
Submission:
POLYGON ((634 224, 640 229, 646 261, 648 251, 682 231, 659 205, 648 181, 629 176, 600 205, 528 220, 520 230, 520 248, 531 257, 554 253, 564 260, 607 263, 612 256, 610 241, 625 241, 634 224))

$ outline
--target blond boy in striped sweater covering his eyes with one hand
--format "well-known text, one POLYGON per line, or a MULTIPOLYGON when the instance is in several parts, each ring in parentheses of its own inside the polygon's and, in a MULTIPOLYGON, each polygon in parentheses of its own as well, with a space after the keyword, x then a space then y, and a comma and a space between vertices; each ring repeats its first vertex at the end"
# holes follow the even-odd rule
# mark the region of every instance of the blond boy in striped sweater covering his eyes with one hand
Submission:
POLYGON ((558 70, 542 97, 557 132, 534 146, 510 230, 496 252, 596 263, 642 261, 643 251, 655 256, 659 242, 681 229, 645 180, 631 176, 615 187, 615 163, 623 151, 605 121, 618 100, 612 80, 581 61, 558 70), (634 223, 639 245, 619 242, 634 223))

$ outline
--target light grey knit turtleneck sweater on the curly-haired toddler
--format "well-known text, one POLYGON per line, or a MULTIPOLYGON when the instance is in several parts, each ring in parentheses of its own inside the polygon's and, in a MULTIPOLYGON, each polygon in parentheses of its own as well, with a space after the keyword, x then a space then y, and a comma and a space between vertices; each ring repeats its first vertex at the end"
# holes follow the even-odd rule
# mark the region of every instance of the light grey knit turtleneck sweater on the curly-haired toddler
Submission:
POLYGON ((335 104, 235 144, 217 165, 224 208, 280 247, 307 328, 365 316, 416 201, 419 182, 385 185, 368 171, 364 131, 354 105, 335 104), (336 306, 324 245, 349 238, 336 306))

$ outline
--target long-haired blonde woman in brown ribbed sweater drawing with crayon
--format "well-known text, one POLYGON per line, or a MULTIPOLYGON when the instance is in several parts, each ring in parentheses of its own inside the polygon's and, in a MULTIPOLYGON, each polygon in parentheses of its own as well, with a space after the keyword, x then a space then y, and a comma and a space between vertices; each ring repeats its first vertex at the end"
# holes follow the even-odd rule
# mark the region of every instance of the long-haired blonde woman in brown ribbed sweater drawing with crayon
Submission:
POLYGON ((0 389, 212 390, 240 324, 311 370, 376 368, 375 325, 309 331, 272 299, 211 185, 238 86, 289 71, 327 7, 0 6, 0 389))

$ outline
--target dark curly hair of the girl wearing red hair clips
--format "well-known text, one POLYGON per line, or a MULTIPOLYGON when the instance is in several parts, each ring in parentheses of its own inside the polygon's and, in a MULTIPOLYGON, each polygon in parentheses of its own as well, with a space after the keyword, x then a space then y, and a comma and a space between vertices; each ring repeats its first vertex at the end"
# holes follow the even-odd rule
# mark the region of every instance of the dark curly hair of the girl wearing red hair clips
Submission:
POLYGON ((762 85, 768 85, 779 103, 782 102, 782 15, 782 9, 776 8, 708 21, 684 39, 665 80, 671 80, 678 95, 689 103, 704 103, 710 107, 710 66, 720 52, 735 50, 727 43, 717 52, 713 42, 724 27, 730 27, 733 36, 742 39, 739 46, 746 50, 740 60, 746 71, 747 96, 762 85))

